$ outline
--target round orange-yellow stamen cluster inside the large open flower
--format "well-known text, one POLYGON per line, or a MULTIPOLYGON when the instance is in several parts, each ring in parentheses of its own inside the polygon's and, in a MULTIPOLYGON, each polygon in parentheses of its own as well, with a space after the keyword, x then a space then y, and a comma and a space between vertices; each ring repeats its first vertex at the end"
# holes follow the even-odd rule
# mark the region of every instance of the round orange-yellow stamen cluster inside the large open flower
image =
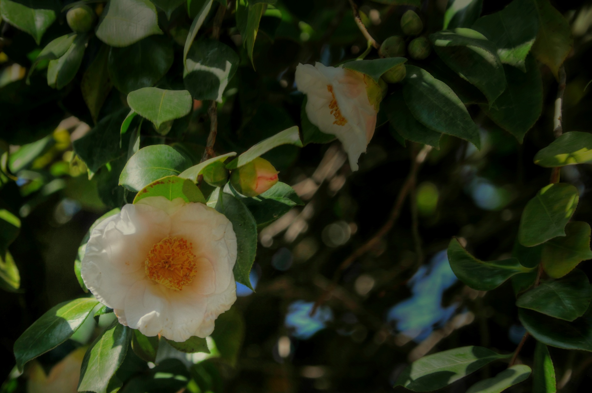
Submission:
POLYGON ((146 258, 146 275, 170 289, 181 291, 197 273, 193 244, 182 237, 166 237, 156 243, 146 258))

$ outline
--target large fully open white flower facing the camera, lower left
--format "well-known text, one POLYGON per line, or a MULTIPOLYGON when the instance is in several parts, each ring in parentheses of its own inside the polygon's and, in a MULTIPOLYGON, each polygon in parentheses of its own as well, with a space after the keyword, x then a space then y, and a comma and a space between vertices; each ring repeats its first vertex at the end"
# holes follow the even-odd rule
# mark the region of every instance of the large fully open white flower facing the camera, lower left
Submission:
POLYGON ((147 197, 94 228, 81 275, 121 324, 184 342, 209 336, 236 301, 236 247, 232 224, 213 208, 147 197))

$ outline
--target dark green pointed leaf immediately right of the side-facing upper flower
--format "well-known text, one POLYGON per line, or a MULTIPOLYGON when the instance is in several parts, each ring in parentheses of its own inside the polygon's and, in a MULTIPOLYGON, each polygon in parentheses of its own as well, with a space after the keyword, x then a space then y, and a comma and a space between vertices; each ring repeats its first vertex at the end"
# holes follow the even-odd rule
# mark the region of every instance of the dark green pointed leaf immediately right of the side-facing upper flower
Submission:
POLYGON ((406 67, 403 95, 411 114, 426 127, 468 140, 480 149, 477 125, 452 89, 420 67, 406 67))

